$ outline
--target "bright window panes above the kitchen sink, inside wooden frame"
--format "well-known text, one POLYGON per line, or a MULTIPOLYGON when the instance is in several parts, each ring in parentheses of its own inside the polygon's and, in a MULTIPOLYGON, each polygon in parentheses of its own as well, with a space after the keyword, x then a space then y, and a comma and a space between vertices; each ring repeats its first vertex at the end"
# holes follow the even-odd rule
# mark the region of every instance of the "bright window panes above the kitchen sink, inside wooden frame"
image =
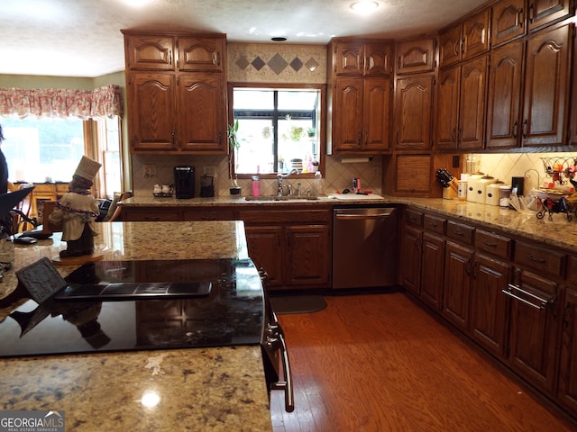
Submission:
POLYGON ((231 123, 239 125, 235 175, 307 175, 320 170, 324 86, 230 85, 229 94, 231 123))

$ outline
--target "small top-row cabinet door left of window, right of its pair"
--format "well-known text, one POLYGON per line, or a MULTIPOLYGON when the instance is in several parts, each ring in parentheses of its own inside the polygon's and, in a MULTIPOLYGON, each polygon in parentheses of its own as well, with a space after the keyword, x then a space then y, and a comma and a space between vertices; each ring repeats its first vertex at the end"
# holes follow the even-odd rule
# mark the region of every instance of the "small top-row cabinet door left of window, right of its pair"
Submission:
POLYGON ((222 71, 224 38, 182 37, 179 38, 179 70, 222 71))

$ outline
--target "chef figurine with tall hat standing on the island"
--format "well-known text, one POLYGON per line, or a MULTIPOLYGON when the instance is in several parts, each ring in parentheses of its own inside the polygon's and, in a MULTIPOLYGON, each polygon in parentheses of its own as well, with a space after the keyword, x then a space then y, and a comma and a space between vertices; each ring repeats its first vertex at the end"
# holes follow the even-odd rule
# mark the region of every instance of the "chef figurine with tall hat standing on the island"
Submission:
POLYGON ((83 156, 72 175, 69 192, 65 193, 56 208, 50 213, 50 223, 62 226, 62 239, 66 250, 60 251, 61 258, 89 256, 94 253, 96 216, 98 205, 90 193, 94 176, 101 164, 83 156))

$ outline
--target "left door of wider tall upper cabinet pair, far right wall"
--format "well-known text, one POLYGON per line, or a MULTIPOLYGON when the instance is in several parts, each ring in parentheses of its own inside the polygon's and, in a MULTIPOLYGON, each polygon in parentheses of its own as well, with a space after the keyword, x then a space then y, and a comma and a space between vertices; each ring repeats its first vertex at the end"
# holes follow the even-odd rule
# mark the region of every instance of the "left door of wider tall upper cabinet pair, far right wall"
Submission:
POLYGON ((510 148, 520 144, 523 46, 523 42, 517 41, 490 53, 487 148, 510 148))

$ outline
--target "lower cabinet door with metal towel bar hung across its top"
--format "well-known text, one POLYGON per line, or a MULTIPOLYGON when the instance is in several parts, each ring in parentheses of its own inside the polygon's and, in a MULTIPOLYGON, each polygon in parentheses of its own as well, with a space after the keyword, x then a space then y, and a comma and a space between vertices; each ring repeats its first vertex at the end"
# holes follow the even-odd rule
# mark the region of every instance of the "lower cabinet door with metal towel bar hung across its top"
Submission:
POLYGON ((512 289, 517 298, 511 297, 509 365, 529 383, 551 394, 558 359, 557 284, 525 271, 518 279, 512 289))

